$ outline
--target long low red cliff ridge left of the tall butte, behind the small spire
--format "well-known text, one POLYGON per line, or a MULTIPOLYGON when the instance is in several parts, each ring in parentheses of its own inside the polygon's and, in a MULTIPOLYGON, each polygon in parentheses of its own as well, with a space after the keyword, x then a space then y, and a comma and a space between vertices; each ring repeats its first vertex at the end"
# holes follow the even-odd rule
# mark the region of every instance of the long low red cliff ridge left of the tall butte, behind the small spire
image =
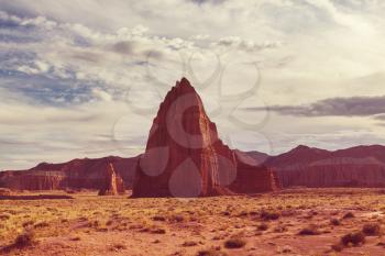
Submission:
POLYGON ((14 190, 97 189, 105 185, 105 172, 111 163, 130 189, 138 157, 74 159, 62 164, 42 163, 29 170, 0 171, 0 187, 14 190))

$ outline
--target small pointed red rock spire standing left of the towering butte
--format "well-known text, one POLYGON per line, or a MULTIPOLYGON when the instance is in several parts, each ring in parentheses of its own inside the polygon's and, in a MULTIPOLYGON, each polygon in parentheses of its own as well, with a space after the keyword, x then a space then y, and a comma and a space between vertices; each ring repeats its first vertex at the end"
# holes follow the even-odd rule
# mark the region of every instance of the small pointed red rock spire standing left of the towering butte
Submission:
POLYGON ((116 172, 111 163, 106 168, 103 180, 105 183, 99 190, 99 196, 124 194, 123 179, 116 172))

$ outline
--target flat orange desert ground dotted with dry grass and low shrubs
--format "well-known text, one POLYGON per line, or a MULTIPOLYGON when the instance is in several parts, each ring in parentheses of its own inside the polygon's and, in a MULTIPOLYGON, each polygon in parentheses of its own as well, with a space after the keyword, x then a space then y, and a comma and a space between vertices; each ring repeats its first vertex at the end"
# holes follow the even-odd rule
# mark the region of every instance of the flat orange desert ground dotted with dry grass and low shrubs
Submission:
POLYGON ((0 200, 0 254, 385 255, 384 190, 193 200, 96 193, 0 200))

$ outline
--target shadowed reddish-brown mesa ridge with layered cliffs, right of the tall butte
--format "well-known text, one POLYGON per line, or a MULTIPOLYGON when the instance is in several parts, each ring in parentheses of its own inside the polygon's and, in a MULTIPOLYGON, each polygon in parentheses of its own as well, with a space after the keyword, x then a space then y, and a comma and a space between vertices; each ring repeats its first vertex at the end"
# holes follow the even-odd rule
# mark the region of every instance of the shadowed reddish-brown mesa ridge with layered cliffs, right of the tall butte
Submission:
POLYGON ((270 157, 284 187, 385 187, 385 147, 356 146, 324 151, 298 146, 270 157))

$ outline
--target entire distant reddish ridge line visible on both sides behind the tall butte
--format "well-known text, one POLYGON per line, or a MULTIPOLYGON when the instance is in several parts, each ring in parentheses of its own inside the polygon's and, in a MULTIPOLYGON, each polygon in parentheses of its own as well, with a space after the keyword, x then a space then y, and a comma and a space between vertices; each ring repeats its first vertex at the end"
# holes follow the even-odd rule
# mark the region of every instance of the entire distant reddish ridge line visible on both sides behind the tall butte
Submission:
MULTIPOLYGON (((299 145, 276 156, 256 151, 233 152, 243 163, 275 169, 284 187, 385 187, 385 146, 382 145, 360 145, 338 151, 299 145)), ((139 157, 109 156, 61 164, 41 163, 28 170, 0 171, 0 187, 99 189, 102 174, 108 163, 112 163, 130 189, 139 157)))

